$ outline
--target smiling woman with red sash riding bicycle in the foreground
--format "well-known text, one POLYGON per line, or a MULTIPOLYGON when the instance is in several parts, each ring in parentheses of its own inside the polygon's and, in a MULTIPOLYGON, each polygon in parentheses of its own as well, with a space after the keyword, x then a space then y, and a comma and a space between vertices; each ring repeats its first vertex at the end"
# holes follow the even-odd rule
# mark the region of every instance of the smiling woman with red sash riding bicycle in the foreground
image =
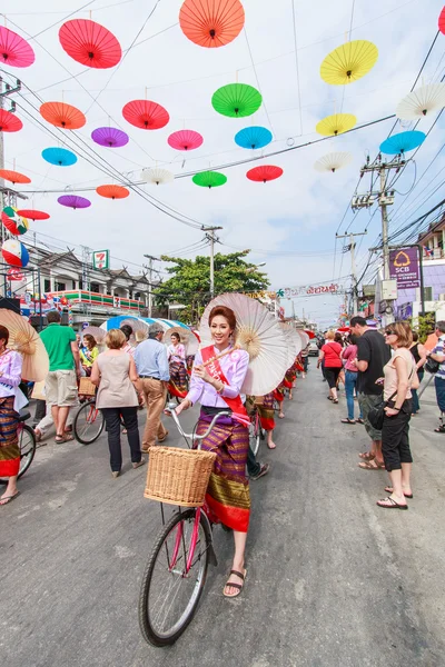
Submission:
POLYGON ((246 477, 249 418, 244 407, 245 397, 240 394, 249 356, 244 350, 233 348, 236 317, 230 308, 212 308, 209 327, 214 342, 197 352, 190 390, 176 411, 179 415, 195 402, 200 402, 201 412, 196 429, 198 435, 207 430, 216 414, 231 411, 230 417, 218 419, 211 432, 202 440, 202 449, 217 455, 206 502, 210 512, 234 530, 235 555, 224 595, 236 597, 241 593, 246 578, 244 561, 250 515, 246 477))

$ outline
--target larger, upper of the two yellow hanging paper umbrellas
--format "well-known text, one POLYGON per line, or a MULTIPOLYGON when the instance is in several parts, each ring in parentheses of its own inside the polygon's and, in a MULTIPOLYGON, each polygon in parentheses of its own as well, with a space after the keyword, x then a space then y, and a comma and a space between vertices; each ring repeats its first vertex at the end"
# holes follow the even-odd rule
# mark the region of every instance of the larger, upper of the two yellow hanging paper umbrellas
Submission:
POLYGON ((320 67, 322 79, 332 86, 352 83, 367 74, 377 58, 378 49, 373 42, 366 40, 346 42, 326 56, 320 67))

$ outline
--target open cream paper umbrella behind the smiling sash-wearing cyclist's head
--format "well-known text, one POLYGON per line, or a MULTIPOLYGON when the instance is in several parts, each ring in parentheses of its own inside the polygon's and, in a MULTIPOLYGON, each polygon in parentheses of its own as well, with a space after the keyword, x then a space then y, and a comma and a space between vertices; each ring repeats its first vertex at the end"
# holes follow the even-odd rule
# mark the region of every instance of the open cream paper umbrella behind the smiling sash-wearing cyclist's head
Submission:
POLYGON ((201 347, 211 344, 208 318, 215 306, 227 306, 236 315, 236 344, 249 354, 250 364, 243 394, 264 396, 273 391, 288 369, 287 341, 278 321, 263 303, 245 295, 219 295, 204 311, 199 335, 201 347))

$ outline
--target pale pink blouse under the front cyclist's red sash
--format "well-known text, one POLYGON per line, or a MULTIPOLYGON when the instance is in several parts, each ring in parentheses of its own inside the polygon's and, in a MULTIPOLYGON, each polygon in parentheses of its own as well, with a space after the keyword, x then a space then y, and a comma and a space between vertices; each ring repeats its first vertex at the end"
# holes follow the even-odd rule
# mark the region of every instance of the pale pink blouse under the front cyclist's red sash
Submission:
MULTIPOLYGON (((202 364, 202 356, 199 350, 195 357, 194 368, 200 364, 202 364)), ((222 396, 227 396, 227 398, 240 396, 243 402, 245 401, 246 397, 241 395, 241 387, 249 367, 249 355, 245 350, 234 350, 229 355, 221 357, 219 364, 228 381, 222 395, 218 394, 215 387, 205 382, 201 378, 198 378, 192 371, 190 390, 187 394, 187 398, 192 405, 199 400, 201 406, 227 408, 227 404, 222 396)))

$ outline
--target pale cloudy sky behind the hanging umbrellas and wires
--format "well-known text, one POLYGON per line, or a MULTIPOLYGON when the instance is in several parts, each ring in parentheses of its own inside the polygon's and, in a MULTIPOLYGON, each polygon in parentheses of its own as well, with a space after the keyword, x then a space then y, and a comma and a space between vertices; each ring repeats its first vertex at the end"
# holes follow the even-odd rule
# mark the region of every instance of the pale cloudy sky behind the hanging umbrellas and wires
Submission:
MULTIPOLYGON (((217 249, 251 249, 249 260, 266 262, 263 270, 274 289, 324 281, 348 286, 350 258, 342 252, 347 241, 335 239, 337 230, 367 229, 367 236, 357 239, 357 269, 363 271, 368 248, 377 241, 379 215, 377 211, 372 217, 373 211, 363 211, 354 218, 348 203, 359 168, 367 155, 372 159, 377 155, 394 119, 322 143, 295 147, 319 139, 316 123, 335 112, 355 115, 358 125, 393 115, 414 83, 436 34, 443 4, 436 0, 318 0, 316 11, 305 0, 244 0, 243 4, 246 22, 238 38, 222 48, 205 49, 189 41, 179 27, 181 0, 95 0, 83 6, 79 2, 79 7, 76 0, 42 0, 38 10, 32 0, 3 0, 6 26, 32 38, 36 51, 30 68, 2 69, 22 80, 22 90, 14 100, 24 126, 22 131, 6 136, 6 167, 31 178, 32 182, 21 190, 37 191, 29 195, 27 207, 51 216, 47 221, 31 222, 31 232, 40 242, 51 249, 69 246, 77 251, 80 245, 109 248, 113 268, 123 263, 138 273, 145 253, 192 258, 196 250, 190 246, 204 238, 199 229, 168 217, 135 192, 112 201, 88 191, 119 181, 81 157, 72 167, 48 165, 41 157, 44 148, 66 146, 76 152, 67 142, 69 136, 78 146, 83 140, 98 155, 96 160, 102 159, 105 169, 112 166, 129 182, 140 180, 141 170, 150 167, 174 172, 172 183, 147 185, 145 191, 180 212, 181 218, 221 226, 217 249), (62 50, 60 26, 73 18, 90 18, 113 32, 125 50, 118 67, 85 68, 62 50), (379 52, 377 63, 359 81, 346 87, 328 86, 320 78, 320 63, 349 38, 373 41, 379 52), (263 94, 260 109, 249 118, 226 118, 211 107, 212 93, 236 81, 251 84, 263 94), (121 110, 135 99, 162 104, 170 115, 169 123, 156 131, 129 125, 121 110), (42 102, 62 100, 86 115, 83 128, 67 133, 41 119, 42 102), (91 131, 108 125, 130 136, 126 147, 107 149, 92 142, 91 131), (273 142, 263 149, 260 160, 221 169, 227 183, 211 190, 197 187, 191 176, 185 176, 261 155, 241 149, 234 141, 236 132, 250 125, 273 132, 273 142), (184 128, 204 137, 202 146, 186 155, 167 143, 171 132, 184 128), (293 150, 267 157, 286 148, 293 150), (316 171, 315 161, 333 151, 350 152, 352 162, 335 173, 316 171), (268 183, 249 181, 247 170, 260 163, 281 167, 283 177, 268 183), (88 197, 92 206, 66 209, 57 202, 65 192, 88 197), (180 252, 176 252, 178 249, 180 252)), ((418 86, 442 78, 443 40, 445 36, 439 34, 418 86)), ((427 117, 417 129, 427 132, 434 120, 435 116, 427 117)), ((411 127, 398 123, 395 131, 411 127)), ((419 179, 439 150, 443 128, 441 118, 418 151, 416 166, 407 168, 397 183, 396 206, 390 213, 395 226, 408 220, 411 213, 417 216, 416 206, 422 206, 425 188, 438 183, 433 179, 445 166, 442 155, 418 186, 414 178, 419 179)), ((368 188, 366 178, 359 191, 368 188)), ((434 205, 439 196, 438 190, 425 206, 434 205)), ((208 248, 199 253, 207 255, 208 248)), ((156 266, 166 278, 165 265, 156 266)), ((342 296, 322 296, 298 298, 294 305, 285 301, 285 307, 287 315, 294 309, 301 316, 305 309, 305 315, 327 326, 335 321, 343 302, 342 296)))

